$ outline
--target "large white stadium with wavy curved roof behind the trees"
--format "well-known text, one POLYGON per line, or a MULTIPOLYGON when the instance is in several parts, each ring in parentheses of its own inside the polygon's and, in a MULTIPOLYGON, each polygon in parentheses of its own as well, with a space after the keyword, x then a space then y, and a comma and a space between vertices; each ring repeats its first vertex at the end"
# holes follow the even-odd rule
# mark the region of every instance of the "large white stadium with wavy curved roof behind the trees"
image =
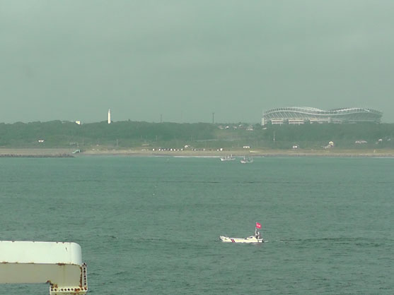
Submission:
POLYGON ((262 114, 261 124, 304 124, 304 123, 380 123, 382 112, 359 107, 316 109, 314 107, 282 107, 270 109, 262 114))

